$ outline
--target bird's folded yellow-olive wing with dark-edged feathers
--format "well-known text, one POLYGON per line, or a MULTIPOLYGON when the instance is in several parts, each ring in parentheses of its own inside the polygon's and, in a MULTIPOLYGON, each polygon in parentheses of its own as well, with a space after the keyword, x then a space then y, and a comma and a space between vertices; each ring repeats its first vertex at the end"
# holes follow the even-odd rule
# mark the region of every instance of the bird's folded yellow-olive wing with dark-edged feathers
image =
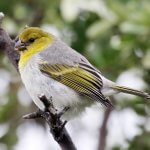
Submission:
POLYGON ((76 65, 53 64, 41 62, 39 68, 42 73, 54 80, 74 89, 81 95, 111 106, 111 102, 101 93, 102 79, 99 73, 88 64, 76 65))

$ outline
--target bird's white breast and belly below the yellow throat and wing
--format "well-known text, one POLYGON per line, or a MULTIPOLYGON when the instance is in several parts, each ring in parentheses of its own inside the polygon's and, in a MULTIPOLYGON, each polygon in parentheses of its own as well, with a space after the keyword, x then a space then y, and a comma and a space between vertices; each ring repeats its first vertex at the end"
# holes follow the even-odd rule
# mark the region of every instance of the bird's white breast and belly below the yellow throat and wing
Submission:
POLYGON ((29 95, 40 109, 44 109, 44 105, 38 97, 43 94, 48 99, 52 98, 53 105, 58 110, 63 109, 65 106, 70 107, 70 111, 65 117, 67 120, 77 116, 85 107, 93 103, 92 100, 80 96, 73 89, 42 74, 38 68, 27 70, 24 69, 21 72, 21 78, 29 95))

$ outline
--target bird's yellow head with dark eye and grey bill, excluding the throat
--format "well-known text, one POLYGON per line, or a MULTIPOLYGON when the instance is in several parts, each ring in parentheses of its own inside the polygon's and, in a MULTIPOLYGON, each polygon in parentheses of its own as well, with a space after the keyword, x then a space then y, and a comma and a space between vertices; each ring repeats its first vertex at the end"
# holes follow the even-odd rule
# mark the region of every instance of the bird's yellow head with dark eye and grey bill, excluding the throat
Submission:
POLYGON ((26 27, 16 39, 15 49, 19 52, 31 51, 38 52, 53 42, 53 35, 43 31, 38 27, 26 27))

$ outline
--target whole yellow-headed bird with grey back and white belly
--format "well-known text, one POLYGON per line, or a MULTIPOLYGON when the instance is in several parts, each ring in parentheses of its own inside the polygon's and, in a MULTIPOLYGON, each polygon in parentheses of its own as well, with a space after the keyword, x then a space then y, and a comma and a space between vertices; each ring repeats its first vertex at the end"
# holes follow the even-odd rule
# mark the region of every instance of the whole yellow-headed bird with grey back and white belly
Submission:
POLYGON ((148 93, 106 79, 84 56, 38 27, 26 27, 15 49, 20 53, 21 79, 35 104, 43 110, 39 96, 51 97, 58 110, 69 107, 64 114, 66 120, 95 102, 112 107, 109 96, 119 92, 150 99, 148 93))

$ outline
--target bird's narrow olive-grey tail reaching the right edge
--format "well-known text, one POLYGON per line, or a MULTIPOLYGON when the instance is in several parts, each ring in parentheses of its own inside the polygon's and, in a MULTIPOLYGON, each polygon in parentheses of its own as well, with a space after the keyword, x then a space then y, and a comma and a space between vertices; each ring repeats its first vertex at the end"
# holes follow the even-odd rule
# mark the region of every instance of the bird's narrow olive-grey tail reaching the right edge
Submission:
POLYGON ((124 86, 118 86, 118 85, 113 85, 111 88, 118 92, 137 95, 145 99, 150 99, 150 94, 143 92, 143 91, 135 90, 135 89, 124 87, 124 86))

